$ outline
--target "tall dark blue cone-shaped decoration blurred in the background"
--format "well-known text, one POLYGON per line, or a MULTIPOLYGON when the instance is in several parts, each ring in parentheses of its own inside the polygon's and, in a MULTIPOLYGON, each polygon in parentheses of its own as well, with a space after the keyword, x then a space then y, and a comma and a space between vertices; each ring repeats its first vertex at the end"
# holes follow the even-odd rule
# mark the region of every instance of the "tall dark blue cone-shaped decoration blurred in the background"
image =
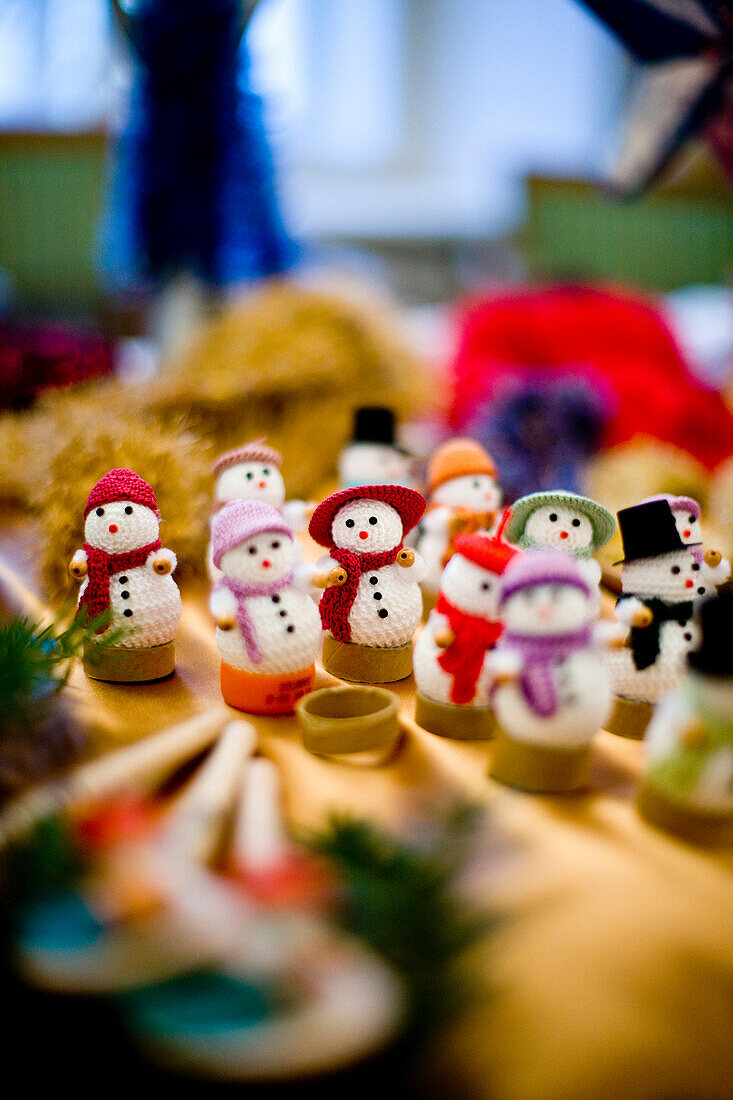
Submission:
POLYGON ((141 0, 125 20, 135 80, 102 229, 119 284, 187 272, 212 287, 285 271, 261 98, 242 0, 141 0))

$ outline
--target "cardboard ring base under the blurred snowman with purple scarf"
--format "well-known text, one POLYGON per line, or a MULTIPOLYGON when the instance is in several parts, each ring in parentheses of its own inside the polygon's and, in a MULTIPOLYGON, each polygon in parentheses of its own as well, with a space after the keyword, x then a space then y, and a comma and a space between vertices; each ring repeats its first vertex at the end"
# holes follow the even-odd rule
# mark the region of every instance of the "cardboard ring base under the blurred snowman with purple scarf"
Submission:
POLYGON ((506 787, 536 794, 576 791, 588 783, 591 747, 535 745, 510 737, 496 724, 490 774, 506 787))

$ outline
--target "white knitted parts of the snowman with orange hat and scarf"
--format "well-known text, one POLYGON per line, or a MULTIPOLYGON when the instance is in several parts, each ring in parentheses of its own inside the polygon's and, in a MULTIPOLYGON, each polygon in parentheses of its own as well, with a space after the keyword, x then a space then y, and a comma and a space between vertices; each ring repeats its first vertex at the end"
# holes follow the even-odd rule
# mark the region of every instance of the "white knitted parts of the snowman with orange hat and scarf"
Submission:
POLYGON ((425 561, 423 587, 438 592, 444 558, 450 540, 450 522, 462 512, 497 513, 502 492, 489 474, 467 474, 439 485, 419 525, 417 547, 425 561))

